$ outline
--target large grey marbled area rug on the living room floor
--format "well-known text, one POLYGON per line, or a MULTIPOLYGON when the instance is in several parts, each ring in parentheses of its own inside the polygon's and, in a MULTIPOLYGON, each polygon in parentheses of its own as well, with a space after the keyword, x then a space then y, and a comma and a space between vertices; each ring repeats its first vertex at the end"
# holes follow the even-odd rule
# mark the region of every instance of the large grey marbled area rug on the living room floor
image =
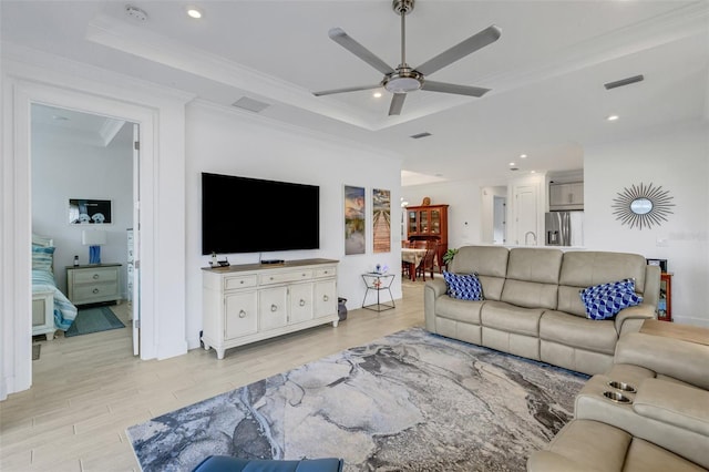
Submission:
POLYGON ((524 471, 587 376, 413 328, 127 429, 144 471, 210 454, 346 471, 524 471))

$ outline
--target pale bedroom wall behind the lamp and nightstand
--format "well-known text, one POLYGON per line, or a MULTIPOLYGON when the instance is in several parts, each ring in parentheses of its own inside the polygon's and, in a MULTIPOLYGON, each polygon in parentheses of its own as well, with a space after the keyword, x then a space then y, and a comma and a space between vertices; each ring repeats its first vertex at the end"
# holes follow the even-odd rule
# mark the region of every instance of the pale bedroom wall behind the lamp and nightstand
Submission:
POLYGON ((126 228, 133 226, 132 124, 126 123, 107 145, 93 145, 69 131, 48 133, 32 127, 32 232, 54 239, 54 278, 66 294, 66 266, 74 255, 89 264, 83 229, 106 232, 103 263, 122 264, 121 289, 126 290, 126 228), (127 133, 127 135, 126 135, 127 133), (69 198, 110 199, 112 223, 69 224, 69 198))

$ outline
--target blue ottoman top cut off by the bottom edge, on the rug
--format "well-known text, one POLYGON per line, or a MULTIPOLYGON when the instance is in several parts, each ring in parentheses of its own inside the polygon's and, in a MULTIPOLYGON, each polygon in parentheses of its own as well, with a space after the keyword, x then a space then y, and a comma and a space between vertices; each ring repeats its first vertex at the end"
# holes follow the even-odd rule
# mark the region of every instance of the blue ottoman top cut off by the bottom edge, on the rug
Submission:
POLYGON ((209 455, 193 472, 342 472, 342 459, 304 459, 277 461, 209 455))

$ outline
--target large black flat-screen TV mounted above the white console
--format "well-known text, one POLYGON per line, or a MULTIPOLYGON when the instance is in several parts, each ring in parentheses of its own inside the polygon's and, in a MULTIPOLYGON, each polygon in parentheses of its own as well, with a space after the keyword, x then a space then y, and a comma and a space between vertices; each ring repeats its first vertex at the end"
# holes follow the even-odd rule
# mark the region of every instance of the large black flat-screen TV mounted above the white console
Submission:
POLYGON ((319 247, 319 186, 202 173, 202 254, 319 247))

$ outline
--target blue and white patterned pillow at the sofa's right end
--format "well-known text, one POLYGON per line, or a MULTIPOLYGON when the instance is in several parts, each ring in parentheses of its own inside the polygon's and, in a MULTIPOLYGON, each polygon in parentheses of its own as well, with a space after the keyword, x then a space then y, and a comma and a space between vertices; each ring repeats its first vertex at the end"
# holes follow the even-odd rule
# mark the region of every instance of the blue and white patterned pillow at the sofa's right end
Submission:
POLYGON ((643 302, 643 297, 635 293, 631 278, 586 287, 579 290, 579 295, 589 319, 613 318, 621 309, 643 302))

